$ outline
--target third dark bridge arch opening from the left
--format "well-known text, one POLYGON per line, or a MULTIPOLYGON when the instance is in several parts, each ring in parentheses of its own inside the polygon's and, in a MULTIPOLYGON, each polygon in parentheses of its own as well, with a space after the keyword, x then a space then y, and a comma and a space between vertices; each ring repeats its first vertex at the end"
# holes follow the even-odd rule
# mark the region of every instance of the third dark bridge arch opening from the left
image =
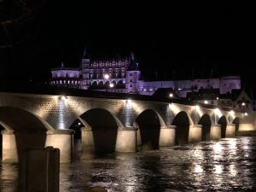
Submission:
POLYGON ((158 149, 160 128, 165 126, 164 120, 154 109, 145 109, 137 115, 134 125, 138 126, 138 148, 143 150, 158 149))

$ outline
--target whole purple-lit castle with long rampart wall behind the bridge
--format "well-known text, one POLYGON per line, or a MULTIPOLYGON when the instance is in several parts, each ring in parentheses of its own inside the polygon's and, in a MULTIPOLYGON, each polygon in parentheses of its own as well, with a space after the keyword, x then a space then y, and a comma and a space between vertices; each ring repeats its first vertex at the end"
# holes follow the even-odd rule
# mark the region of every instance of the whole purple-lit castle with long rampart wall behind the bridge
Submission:
POLYGON ((201 89, 218 89, 219 94, 241 90, 239 76, 219 79, 143 81, 133 53, 127 58, 107 61, 90 60, 84 53, 81 68, 69 68, 62 65, 52 69, 51 73, 51 85, 84 90, 153 95, 159 88, 169 88, 178 97, 186 97, 187 93, 198 92, 201 89))

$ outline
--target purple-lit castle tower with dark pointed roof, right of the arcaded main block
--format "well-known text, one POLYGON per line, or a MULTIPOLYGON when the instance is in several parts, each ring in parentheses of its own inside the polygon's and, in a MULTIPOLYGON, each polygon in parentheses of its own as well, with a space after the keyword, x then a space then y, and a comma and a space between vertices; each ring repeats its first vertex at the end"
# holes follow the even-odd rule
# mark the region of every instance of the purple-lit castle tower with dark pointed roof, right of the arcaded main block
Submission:
POLYGON ((134 53, 131 52, 130 65, 126 71, 125 88, 127 93, 137 93, 138 80, 141 77, 141 72, 138 67, 138 63, 135 59, 134 53))

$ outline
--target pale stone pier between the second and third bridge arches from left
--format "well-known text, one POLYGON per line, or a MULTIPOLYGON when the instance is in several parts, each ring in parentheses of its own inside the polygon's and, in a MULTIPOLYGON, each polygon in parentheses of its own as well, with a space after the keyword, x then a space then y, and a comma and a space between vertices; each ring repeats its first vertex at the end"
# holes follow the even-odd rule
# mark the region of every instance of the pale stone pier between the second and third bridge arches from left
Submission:
POLYGON ((137 127, 119 127, 115 151, 122 153, 137 151, 137 127))

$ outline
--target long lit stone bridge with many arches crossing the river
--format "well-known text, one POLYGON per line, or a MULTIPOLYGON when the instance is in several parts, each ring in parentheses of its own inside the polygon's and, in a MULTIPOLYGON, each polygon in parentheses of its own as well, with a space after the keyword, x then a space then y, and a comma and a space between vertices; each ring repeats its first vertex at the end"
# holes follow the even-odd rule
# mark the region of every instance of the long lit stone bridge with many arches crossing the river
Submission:
POLYGON ((255 114, 153 96, 85 90, 0 92, 2 160, 18 162, 26 148, 60 148, 73 160, 73 125, 81 125, 81 159, 136 152, 255 130, 255 114))

